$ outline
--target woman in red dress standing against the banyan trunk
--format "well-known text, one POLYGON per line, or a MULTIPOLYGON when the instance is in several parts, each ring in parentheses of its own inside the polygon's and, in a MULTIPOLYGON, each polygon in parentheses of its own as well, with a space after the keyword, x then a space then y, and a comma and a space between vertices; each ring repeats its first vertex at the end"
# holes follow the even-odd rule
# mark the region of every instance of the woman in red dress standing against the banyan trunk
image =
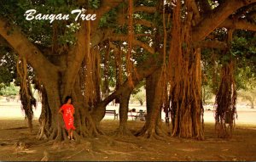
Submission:
POLYGON ((59 109, 59 113, 62 114, 63 120, 65 122, 65 127, 68 131, 68 139, 73 139, 73 130, 76 128, 73 126, 73 114, 74 114, 74 107, 73 104, 71 104, 72 98, 70 96, 67 96, 65 99, 65 103, 61 106, 61 109, 59 109))

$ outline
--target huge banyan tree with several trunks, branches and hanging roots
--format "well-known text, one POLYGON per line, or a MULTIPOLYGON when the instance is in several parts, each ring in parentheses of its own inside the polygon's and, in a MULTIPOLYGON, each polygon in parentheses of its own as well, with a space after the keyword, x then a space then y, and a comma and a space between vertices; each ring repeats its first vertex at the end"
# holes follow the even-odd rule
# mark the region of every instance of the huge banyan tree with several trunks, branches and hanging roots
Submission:
MULTIPOLYGON (((166 137, 160 111, 170 107, 172 136, 203 139, 201 49, 228 47, 228 42, 212 38, 218 28, 256 31, 256 25, 245 19, 255 3, 256 0, 5 1, 0 3, 0 39, 20 60, 20 97, 30 122, 35 103, 32 83, 41 94, 38 138, 67 138, 61 115, 57 114, 67 95, 72 96, 76 108, 75 138, 102 134, 100 122, 113 100, 119 103, 117 134, 131 135, 127 127, 129 99, 133 89, 146 81, 148 115, 135 135, 166 137), (55 14, 84 8, 86 14, 96 14, 96 20, 27 21, 24 13, 31 8, 55 14), (27 68, 32 69, 32 77, 27 76, 27 68), (110 87, 114 87, 113 92, 110 87)), ((232 70, 231 66, 223 75, 232 70)), ((227 79, 232 81, 224 78, 227 79)))

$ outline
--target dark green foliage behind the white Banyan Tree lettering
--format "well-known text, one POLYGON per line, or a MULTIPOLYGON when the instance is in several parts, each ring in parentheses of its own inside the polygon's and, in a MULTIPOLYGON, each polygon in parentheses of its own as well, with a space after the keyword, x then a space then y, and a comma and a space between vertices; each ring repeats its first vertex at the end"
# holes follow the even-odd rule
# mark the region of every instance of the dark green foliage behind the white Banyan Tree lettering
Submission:
MULTIPOLYGON (((73 45, 75 42, 74 32, 77 30, 73 30, 67 25, 70 26, 73 23, 70 20, 73 20, 76 16, 75 14, 70 14, 71 10, 78 8, 76 3, 71 3, 69 0, 10 0, 1 1, 0 6, 3 8, 0 11, 0 16, 5 17, 10 23, 19 25, 31 42, 40 46, 51 47, 54 24, 57 26, 57 42, 60 46, 73 45), (26 10, 32 8, 36 9, 36 14, 70 14, 70 20, 55 20, 53 24, 44 20, 28 21, 25 19, 24 14, 26 10)), ((9 31, 9 34, 11 34, 11 31, 9 31)))

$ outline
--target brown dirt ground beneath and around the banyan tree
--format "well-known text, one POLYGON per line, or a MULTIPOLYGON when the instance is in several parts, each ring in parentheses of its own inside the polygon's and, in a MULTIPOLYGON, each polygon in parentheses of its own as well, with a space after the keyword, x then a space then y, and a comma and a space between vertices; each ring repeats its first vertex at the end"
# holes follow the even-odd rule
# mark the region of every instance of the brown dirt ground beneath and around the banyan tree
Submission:
MULTIPOLYGON (((131 131, 143 126, 143 121, 128 121, 131 131)), ((165 140, 141 137, 116 137, 118 120, 103 120, 105 136, 76 142, 37 140, 38 121, 29 132, 26 120, 0 120, 1 161, 177 161, 177 160, 256 160, 256 126, 237 125, 229 140, 218 139, 214 125, 205 125, 204 141, 168 137, 165 140)), ((165 125, 164 125, 165 126, 165 125)))

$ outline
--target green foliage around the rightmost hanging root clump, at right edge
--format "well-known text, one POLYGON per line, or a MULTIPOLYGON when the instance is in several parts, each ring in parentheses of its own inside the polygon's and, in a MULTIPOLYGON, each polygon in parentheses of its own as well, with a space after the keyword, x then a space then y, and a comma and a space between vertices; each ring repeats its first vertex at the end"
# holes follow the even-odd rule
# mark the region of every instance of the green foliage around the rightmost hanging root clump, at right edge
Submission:
MULTIPOLYGON (((224 41, 226 34, 224 30, 217 30, 213 35, 217 36, 218 40, 224 41)), ((213 93, 216 92, 220 81, 221 67, 233 59, 236 62, 234 74, 236 89, 248 90, 254 87, 256 82, 256 38, 254 34, 251 31, 235 31, 228 53, 216 49, 202 50, 203 86, 209 86, 213 93), (213 59, 213 54, 215 59, 213 59)))

